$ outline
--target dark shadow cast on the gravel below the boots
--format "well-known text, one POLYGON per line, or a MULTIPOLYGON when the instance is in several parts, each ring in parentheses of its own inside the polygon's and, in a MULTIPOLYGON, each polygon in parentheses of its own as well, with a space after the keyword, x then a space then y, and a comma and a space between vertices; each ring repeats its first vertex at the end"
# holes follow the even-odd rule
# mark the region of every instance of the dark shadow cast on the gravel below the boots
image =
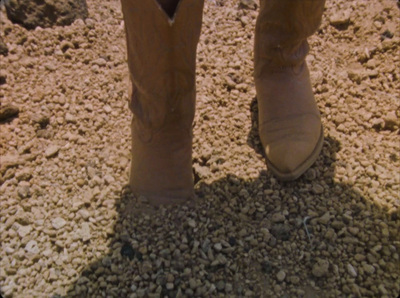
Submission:
MULTIPOLYGON (((248 143, 259 152, 252 118, 248 143)), ((194 207, 130 217, 123 214, 132 197, 122 194, 109 253, 87 266, 65 297, 372 297, 381 284, 394 293, 399 213, 334 182, 339 150, 327 137, 296 182, 280 183, 265 170, 251 181, 227 175, 200 182, 194 207)))

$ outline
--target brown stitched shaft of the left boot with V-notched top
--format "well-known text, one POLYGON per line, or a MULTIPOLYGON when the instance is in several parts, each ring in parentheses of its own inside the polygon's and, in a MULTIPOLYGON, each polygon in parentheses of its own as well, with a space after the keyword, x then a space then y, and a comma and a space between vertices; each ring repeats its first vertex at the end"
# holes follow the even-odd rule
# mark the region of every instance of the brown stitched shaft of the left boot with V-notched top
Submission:
POLYGON ((157 129, 169 113, 185 113, 191 125, 203 1, 181 0, 172 18, 156 0, 121 2, 135 117, 157 129))

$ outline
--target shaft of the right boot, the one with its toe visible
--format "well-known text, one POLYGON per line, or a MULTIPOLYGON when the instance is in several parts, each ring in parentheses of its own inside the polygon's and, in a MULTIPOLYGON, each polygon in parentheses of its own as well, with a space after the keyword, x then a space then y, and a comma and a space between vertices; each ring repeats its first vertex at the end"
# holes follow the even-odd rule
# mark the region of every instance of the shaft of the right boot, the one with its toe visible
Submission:
POLYGON ((325 0, 260 0, 254 42, 255 77, 302 67, 307 37, 321 23, 325 0))

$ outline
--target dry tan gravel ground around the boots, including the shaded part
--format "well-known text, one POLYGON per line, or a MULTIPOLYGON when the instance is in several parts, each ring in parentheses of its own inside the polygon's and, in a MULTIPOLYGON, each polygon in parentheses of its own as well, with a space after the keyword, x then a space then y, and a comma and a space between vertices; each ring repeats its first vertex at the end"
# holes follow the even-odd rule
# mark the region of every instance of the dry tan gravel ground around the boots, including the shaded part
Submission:
POLYGON ((131 114, 119 1, 88 0, 89 19, 32 31, 2 10, 0 100, 20 110, 0 123, 4 297, 397 297, 398 3, 327 1, 307 57, 324 147, 304 177, 281 183, 260 154, 257 7, 243 2, 205 3, 198 204, 147 215, 124 212, 131 114))

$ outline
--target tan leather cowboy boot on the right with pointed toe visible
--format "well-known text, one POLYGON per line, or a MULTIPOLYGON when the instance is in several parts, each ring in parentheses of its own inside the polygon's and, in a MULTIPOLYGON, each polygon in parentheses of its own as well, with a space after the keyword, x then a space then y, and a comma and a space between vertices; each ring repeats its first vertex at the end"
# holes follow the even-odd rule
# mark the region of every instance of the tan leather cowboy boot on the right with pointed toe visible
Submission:
POLYGON ((307 37, 321 22, 324 0, 261 0, 254 78, 259 134, 268 169, 294 180, 317 159, 323 129, 305 57, 307 37))

